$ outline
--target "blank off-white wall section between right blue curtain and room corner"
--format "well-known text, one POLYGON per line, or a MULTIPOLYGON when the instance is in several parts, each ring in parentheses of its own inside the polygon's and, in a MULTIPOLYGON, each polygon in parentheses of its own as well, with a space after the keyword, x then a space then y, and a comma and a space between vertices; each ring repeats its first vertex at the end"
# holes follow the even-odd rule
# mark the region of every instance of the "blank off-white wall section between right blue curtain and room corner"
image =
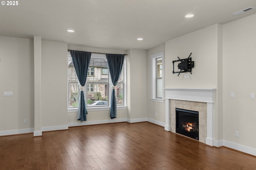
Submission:
MULTIPOLYGON (((128 122, 147 120, 147 51, 128 51, 128 122)), ((150 94, 149 94, 150 95, 150 94)))

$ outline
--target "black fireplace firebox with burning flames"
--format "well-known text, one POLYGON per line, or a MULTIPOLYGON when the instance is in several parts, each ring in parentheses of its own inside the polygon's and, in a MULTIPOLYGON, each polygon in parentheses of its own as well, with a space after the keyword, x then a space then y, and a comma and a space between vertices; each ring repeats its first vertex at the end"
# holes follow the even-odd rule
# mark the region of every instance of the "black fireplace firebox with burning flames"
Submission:
POLYGON ((176 108, 176 133, 199 140, 198 111, 176 108))

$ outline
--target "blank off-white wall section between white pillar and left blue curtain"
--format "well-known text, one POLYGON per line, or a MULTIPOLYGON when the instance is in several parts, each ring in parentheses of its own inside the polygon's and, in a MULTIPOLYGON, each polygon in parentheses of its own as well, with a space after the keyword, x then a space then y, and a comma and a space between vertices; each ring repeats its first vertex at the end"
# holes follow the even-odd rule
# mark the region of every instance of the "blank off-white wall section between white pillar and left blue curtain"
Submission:
POLYGON ((68 125, 67 65, 67 43, 42 40, 42 127, 68 125))

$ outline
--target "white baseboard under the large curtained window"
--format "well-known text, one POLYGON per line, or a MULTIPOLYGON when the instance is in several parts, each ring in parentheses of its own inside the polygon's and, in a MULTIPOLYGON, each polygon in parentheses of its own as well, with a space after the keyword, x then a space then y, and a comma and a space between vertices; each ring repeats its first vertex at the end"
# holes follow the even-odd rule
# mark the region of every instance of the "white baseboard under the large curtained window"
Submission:
POLYGON ((106 120, 96 120, 96 121, 76 121, 68 123, 68 127, 73 126, 84 126, 84 125, 98 125, 98 124, 105 124, 105 123, 118 123, 118 122, 126 122, 127 119, 106 119, 106 120))

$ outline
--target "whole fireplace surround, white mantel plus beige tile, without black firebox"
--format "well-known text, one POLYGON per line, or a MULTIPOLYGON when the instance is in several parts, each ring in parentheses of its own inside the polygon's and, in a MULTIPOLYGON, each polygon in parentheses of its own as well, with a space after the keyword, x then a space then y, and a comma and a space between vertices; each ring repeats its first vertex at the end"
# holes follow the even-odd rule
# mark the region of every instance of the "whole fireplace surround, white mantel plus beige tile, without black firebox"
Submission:
POLYGON ((164 88, 165 126, 164 130, 176 133, 175 107, 199 111, 199 141, 214 146, 214 96, 216 88, 185 89, 164 88), (174 108, 174 111, 173 111, 174 108), (198 110, 197 110, 198 109, 198 110), (205 113, 206 111, 206 113, 205 113), (200 115, 201 113, 201 115, 200 115), (201 132, 200 132, 201 127, 201 132))

